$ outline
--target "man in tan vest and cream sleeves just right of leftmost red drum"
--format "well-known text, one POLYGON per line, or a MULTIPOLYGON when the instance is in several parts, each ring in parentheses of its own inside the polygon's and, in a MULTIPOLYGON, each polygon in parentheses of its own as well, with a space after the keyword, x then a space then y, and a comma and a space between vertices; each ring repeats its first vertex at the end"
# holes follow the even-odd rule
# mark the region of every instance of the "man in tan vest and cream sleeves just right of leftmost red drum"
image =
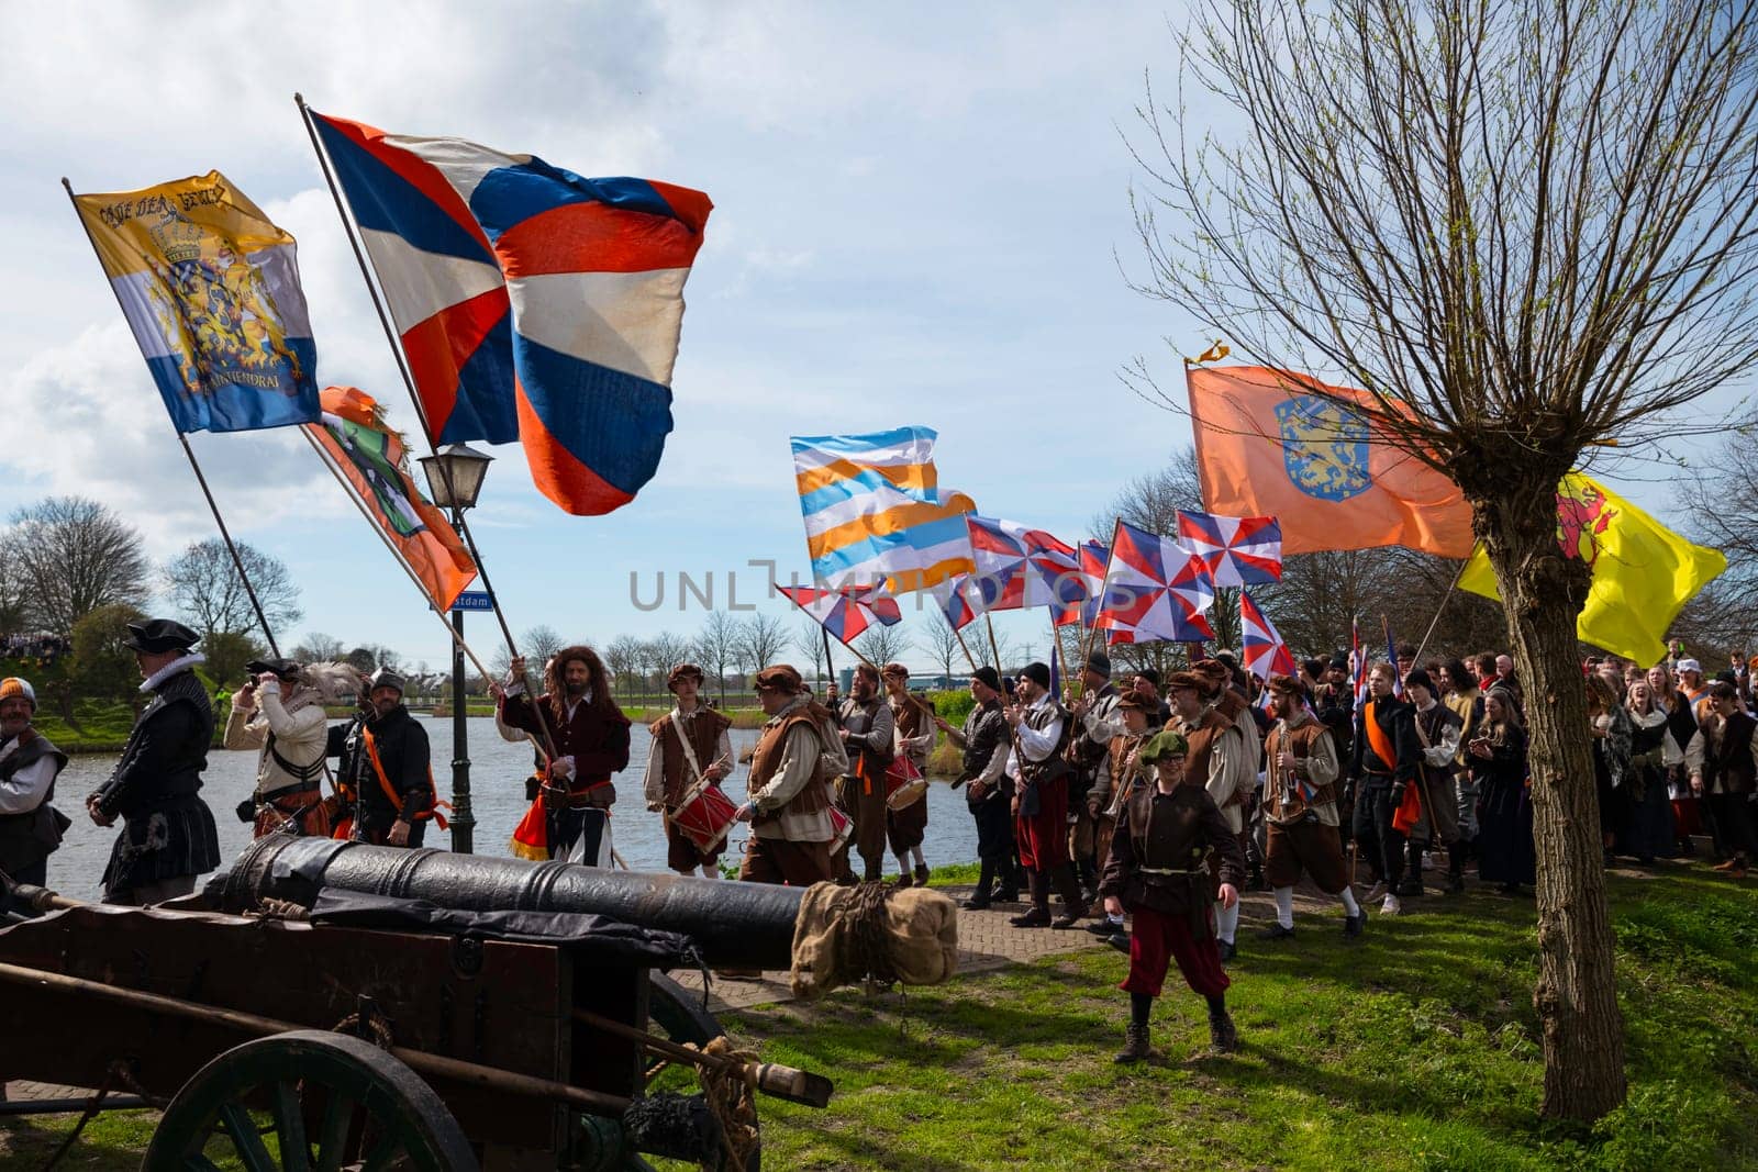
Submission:
POLYGON ((835 717, 803 691, 800 673, 775 664, 756 675, 768 713, 751 756, 738 821, 751 822, 738 879, 809 887, 833 879, 830 778, 847 768, 835 717))

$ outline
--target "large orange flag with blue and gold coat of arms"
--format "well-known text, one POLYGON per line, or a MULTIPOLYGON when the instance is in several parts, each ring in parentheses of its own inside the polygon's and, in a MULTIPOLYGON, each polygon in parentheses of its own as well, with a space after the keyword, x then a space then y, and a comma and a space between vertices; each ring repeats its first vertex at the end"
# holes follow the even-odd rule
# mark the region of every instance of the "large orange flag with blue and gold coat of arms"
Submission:
MULTIPOLYGON (((1471 506, 1459 487, 1303 380, 1260 365, 1185 373, 1202 508, 1280 518, 1283 553, 1403 545, 1470 557, 1471 506)), ((1368 392, 1318 385, 1377 406, 1368 392)))

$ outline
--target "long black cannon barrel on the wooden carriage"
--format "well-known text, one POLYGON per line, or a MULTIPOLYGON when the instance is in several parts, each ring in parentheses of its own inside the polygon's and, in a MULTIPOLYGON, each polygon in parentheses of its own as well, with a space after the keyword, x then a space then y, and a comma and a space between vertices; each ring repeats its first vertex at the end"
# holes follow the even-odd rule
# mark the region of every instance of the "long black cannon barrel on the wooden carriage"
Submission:
POLYGON ((802 887, 610 872, 448 850, 269 835, 206 889, 209 907, 257 910, 264 898, 311 907, 323 889, 427 900, 462 912, 577 912, 677 931, 717 968, 789 968, 802 887))

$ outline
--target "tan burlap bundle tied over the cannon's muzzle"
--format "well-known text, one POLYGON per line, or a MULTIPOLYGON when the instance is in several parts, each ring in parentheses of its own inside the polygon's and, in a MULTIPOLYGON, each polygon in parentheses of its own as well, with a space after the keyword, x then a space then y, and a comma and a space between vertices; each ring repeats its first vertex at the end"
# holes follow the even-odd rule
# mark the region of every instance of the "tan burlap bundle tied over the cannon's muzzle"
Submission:
POLYGON ((872 979, 941 984, 958 972, 958 905, 926 887, 814 884, 793 926, 793 995, 872 979))

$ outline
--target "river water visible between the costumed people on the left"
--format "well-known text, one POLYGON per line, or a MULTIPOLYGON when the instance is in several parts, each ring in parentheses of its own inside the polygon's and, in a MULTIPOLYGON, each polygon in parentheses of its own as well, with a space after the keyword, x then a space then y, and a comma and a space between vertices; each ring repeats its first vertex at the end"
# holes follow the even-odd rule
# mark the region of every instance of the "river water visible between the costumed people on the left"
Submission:
MULTIPOLYGON (((450 796, 452 789, 452 720, 450 717, 434 720, 417 717, 427 727, 427 740, 432 745, 434 782, 441 796, 450 796)), ((517 745, 503 742, 494 731, 490 717, 471 717, 469 726, 469 791, 471 808, 476 814, 476 854, 508 856, 506 842, 526 815, 526 777, 531 773, 531 747, 526 742, 517 745)), ((754 729, 733 729, 735 754, 756 743, 754 729)), ((640 727, 635 729, 629 768, 617 775, 617 805, 612 819, 612 836, 628 865, 638 872, 665 870, 665 828, 657 814, 645 810, 642 798, 642 777, 647 770, 647 747, 652 738, 640 727)), ((74 819, 62 849, 49 857, 49 886, 63 894, 79 900, 95 900, 100 893, 104 865, 109 861, 111 843, 116 840, 116 828, 104 829, 93 826, 84 812, 84 798, 109 778, 116 757, 111 754, 79 754, 56 782, 54 805, 67 817, 74 819)), ((216 749, 207 754, 207 771, 202 775, 202 798, 214 812, 220 828, 220 857, 232 859, 250 845, 250 826, 237 821, 232 812, 239 801, 250 796, 255 787, 257 752, 227 752, 216 749)), ((724 784, 728 798, 742 801, 745 794, 747 766, 738 766, 735 775, 724 784)), ((749 829, 735 826, 723 863, 737 861, 740 845, 749 829)), ((425 845, 448 849, 450 835, 429 826, 425 845)), ((955 792, 946 782, 928 785, 928 840, 923 854, 930 866, 948 863, 970 863, 977 857, 976 826, 965 808, 962 792, 955 792)), ((858 861, 856 861, 858 866, 858 861)), ((897 873, 897 859, 886 861, 886 873, 897 873)))

